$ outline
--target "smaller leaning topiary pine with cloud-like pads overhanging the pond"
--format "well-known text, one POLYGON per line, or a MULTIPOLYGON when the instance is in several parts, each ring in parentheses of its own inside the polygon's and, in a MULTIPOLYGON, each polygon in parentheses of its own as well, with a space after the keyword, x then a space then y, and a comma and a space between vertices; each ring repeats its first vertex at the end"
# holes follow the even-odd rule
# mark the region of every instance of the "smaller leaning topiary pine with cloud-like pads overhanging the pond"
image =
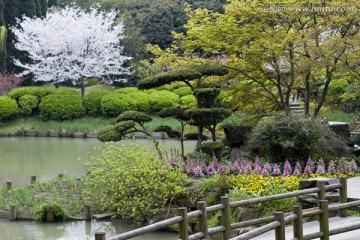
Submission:
POLYGON ((145 123, 150 122, 151 120, 152 118, 145 113, 138 111, 126 111, 116 118, 117 124, 100 129, 97 138, 102 142, 116 142, 121 141, 121 139, 127 134, 141 132, 150 138, 155 146, 159 158, 162 159, 163 156, 159 148, 159 142, 156 141, 154 136, 145 127, 145 123), (136 126, 136 123, 140 126, 140 128, 136 126))

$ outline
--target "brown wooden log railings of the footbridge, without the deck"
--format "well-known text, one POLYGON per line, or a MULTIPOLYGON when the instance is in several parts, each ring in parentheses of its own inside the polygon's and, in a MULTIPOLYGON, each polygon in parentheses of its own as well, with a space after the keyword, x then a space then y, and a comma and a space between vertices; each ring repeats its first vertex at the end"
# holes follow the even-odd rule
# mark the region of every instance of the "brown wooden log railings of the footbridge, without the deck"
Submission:
POLYGON ((253 198, 249 200, 242 200, 237 202, 230 202, 229 197, 221 197, 221 203, 214 206, 206 206, 204 201, 197 203, 198 210, 187 212, 186 208, 178 208, 178 216, 154 223, 139 229, 135 229, 126 233, 122 233, 111 238, 106 238, 105 233, 98 232, 95 234, 95 240, 125 240, 131 239, 136 236, 140 236, 152 231, 162 229, 164 227, 171 226, 173 224, 179 224, 179 239, 181 240, 194 240, 194 239, 209 239, 209 236, 215 233, 222 233, 224 240, 246 240, 259 236, 271 230, 275 230, 276 240, 285 240, 285 225, 293 223, 293 240, 309 240, 320 238, 321 240, 328 240, 329 236, 352 231, 360 228, 360 224, 348 224, 341 228, 329 229, 329 212, 339 211, 340 217, 346 217, 346 209, 360 206, 360 201, 354 201, 347 203, 347 180, 346 178, 340 178, 339 183, 325 186, 325 181, 318 180, 317 185, 314 188, 299 190, 296 192, 289 192, 283 194, 277 194, 272 196, 253 198), (328 205, 328 201, 325 200, 325 192, 339 189, 339 203, 328 205), (231 208, 238 208, 249 204, 257 204, 267 201, 273 201, 278 199, 285 199, 290 197, 298 197, 307 194, 317 194, 318 206, 310 209, 302 209, 301 205, 295 205, 292 213, 275 212, 273 216, 252 219, 243 222, 230 222, 230 210, 231 208), (221 225, 215 228, 208 228, 207 215, 208 213, 221 211, 221 225), (303 233, 303 218, 309 216, 318 215, 320 231, 312 234, 304 235, 303 233), (199 232, 189 235, 188 231, 188 219, 198 218, 199 232), (267 223, 267 224, 266 224, 267 223), (241 234, 234 238, 231 238, 231 230, 254 226, 259 224, 266 224, 251 230, 247 233, 241 234))

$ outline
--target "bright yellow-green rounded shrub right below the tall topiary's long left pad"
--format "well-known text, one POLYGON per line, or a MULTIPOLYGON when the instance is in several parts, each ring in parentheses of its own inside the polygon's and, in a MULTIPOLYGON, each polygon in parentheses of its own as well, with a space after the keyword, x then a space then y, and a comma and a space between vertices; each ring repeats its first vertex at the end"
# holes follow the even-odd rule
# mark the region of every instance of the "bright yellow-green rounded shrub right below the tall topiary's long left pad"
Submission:
POLYGON ((150 94, 150 111, 157 112, 164 108, 169 108, 179 103, 179 96, 176 93, 161 90, 150 94))

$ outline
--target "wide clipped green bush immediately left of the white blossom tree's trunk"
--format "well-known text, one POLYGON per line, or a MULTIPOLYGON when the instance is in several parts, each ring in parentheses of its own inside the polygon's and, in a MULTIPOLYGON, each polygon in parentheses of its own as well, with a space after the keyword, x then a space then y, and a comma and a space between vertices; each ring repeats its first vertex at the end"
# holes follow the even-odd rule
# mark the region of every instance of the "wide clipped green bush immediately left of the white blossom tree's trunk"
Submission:
POLYGON ((79 94, 50 94, 39 104, 40 118, 43 120, 65 120, 80 118, 85 114, 79 94))

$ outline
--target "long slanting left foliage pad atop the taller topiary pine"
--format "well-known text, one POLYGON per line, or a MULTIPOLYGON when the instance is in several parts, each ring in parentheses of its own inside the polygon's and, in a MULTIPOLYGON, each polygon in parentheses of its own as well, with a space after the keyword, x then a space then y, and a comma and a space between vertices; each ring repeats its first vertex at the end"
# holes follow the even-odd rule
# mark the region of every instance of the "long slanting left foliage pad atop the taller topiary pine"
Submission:
POLYGON ((139 89, 150 89, 177 81, 186 82, 193 79, 198 79, 201 76, 202 75, 200 72, 194 71, 192 69, 176 69, 169 72, 160 73, 153 77, 145 78, 138 83, 137 87, 139 89))

